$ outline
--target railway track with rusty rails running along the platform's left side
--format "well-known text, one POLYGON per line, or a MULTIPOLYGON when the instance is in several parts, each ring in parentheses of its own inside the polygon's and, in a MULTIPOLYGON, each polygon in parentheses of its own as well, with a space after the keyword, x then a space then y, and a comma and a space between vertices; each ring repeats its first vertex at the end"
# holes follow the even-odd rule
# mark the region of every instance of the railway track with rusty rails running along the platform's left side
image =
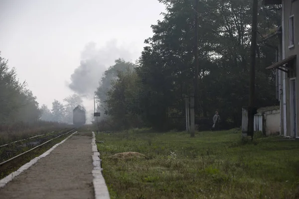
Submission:
MULTIPOLYGON (((42 134, 42 135, 37 135, 37 136, 30 137, 30 138, 26 138, 26 139, 22 139, 22 140, 18 140, 18 141, 15 141, 15 142, 11 142, 11 143, 8 143, 8 144, 1 145, 0 149, 2 150, 2 153, 0 155, 1 155, 2 158, 0 159, 0 161, 2 161, 2 162, 0 162, 0 168, 2 166, 6 165, 7 163, 10 163, 11 161, 18 159, 18 158, 24 156, 25 154, 28 154, 29 152, 31 152, 33 150, 36 150, 36 149, 40 148, 41 146, 43 146, 43 145, 59 138, 59 137, 62 137, 62 136, 67 135, 71 132, 74 132, 76 129, 77 128, 74 128, 72 130, 67 130, 67 132, 63 131, 63 132, 58 133, 58 134, 54 134, 54 132, 45 133, 45 134, 42 134), (42 139, 39 139, 37 141, 22 143, 22 141, 30 141, 34 138, 39 138, 39 137, 46 136, 46 135, 49 135, 49 136, 47 136, 45 138, 42 138, 42 139), (16 143, 18 143, 19 145, 18 146, 13 146, 16 143), (28 145, 32 146, 32 148, 28 147, 28 145), (17 151, 21 151, 21 153, 18 153, 17 155, 14 155, 13 157, 9 157, 8 159, 3 158, 3 153, 7 153, 7 151, 9 152, 9 150, 5 150, 3 148, 7 147, 7 149, 11 149, 11 148, 9 148, 11 146, 14 149, 14 152, 16 151, 16 153, 17 153, 17 151), (19 150, 19 149, 22 149, 22 148, 28 148, 28 150, 25 150, 25 151, 19 150)), ((7 157, 7 156, 5 156, 5 157, 7 157)))

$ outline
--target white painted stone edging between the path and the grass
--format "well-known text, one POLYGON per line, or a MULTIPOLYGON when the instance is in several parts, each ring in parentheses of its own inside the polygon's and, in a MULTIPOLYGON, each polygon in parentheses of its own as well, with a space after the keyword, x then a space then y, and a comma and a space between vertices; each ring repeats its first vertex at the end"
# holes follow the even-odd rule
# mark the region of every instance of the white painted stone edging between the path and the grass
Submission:
POLYGON ((100 153, 98 152, 98 147, 96 144, 96 135, 95 132, 92 131, 92 163, 94 169, 92 170, 93 179, 93 186, 95 190, 95 199, 110 199, 109 192, 107 185, 105 183, 105 179, 102 175, 102 168, 101 168, 101 160, 100 160, 100 153))

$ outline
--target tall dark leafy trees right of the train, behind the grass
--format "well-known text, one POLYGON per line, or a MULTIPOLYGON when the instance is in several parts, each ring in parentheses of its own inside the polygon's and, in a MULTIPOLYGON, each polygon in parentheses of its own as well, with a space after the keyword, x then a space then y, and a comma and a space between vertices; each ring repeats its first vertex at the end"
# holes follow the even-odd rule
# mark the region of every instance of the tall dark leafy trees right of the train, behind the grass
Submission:
MULTIPOLYGON (((249 100, 251 0, 159 0, 163 20, 136 64, 117 60, 104 74, 96 96, 105 120, 117 129, 150 126, 184 129, 185 96, 194 84, 194 16, 198 16, 199 82, 196 123, 209 128, 215 110, 224 128, 241 125, 241 108, 249 100), (109 77, 109 78, 108 78, 109 77), (113 78, 112 78, 113 77, 113 78), (107 81, 109 80, 109 81, 107 81), (109 87, 103 85, 109 84, 109 87), (105 89, 103 89, 105 88, 105 89)), ((280 24, 280 9, 259 6, 256 52, 256 101, 277 104, 275 73, 265 68, 276 60, 275 48, 260 42, 280 24)), ((269 43, 277 46, 273 38, 269 43)))

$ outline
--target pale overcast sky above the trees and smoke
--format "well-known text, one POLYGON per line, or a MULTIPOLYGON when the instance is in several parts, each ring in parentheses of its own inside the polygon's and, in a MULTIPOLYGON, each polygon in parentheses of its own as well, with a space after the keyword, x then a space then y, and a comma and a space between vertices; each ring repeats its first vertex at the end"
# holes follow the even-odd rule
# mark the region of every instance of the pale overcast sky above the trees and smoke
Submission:
POLYGON ((1 57, 51 107, 74 93, 68 85, 86 52, 105 67, 136 61, 163 11, 157 0, 0 0, 1 57))

